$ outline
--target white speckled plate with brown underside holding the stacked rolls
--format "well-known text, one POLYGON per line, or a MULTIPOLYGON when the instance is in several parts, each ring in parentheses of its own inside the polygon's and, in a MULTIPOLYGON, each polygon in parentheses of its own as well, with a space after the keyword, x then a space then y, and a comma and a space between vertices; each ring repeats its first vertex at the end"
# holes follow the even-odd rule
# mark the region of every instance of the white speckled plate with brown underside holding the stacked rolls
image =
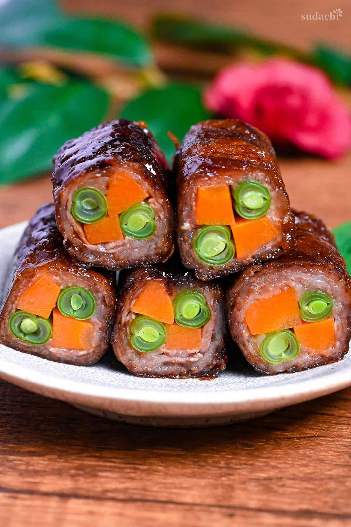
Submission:
MULTIPOLYGON (((26 223, 0 230, 0 286, 26 223)), ((351 353, 307 372, 265 377, 233 346, 232 366, 215 380, 147 379, 129 374, 109 353, 94 366, 69 366, 0 345, 0 377, 103 417, 155 426, 233 423, 351 385, 351 353)))

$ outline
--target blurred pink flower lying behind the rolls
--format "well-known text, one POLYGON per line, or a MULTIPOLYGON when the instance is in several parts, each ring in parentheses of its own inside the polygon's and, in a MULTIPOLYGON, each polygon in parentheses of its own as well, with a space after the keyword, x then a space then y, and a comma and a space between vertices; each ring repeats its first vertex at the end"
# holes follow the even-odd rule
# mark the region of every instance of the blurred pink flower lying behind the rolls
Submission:
POLYGON ((318 69, 282 58, 234 64, 205 93, 209 109, 241 119, 273 142, 338 158, 351 145, 347 106, 318 69))

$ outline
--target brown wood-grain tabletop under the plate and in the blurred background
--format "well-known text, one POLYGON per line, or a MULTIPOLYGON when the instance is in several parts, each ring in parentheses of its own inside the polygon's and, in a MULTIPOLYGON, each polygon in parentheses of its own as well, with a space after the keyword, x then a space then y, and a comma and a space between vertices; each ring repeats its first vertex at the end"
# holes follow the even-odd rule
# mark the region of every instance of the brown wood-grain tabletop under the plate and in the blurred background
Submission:
MULTIPOLYGON (((349 4, 273 0, 74 0, 72 10, 145 25, 159 9, 199 13, 307 47, 349 45, 349 4), (337 22, 300 14, 344 11, 337 22)), ((162 61, 167 56, 163 51, 162 61)), ((294 207, 329 227, 351 219, 351 155, 281 158, 294 207)), ((49 175, 0 187, 0 227, 49 201, 49 175)), ((249 423, 205 430, 118 424, 0 382, 1 527, 351 525, 351 388, 249 423)))

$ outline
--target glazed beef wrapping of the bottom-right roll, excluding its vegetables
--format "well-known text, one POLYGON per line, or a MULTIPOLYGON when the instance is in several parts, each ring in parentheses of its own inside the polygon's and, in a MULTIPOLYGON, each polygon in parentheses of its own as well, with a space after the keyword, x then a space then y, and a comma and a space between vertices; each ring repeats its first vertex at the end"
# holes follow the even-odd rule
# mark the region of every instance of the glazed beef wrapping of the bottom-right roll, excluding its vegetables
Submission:
POLYGON ((249 266, 226 291, 226 312, 232 338, 248 362, 260 373, 298 372, 336 362, 348 352, 351 338, 351 279, 338 252, 333 234, 323 221, 296 212, 296 245, 278 259, 249 266), (297 290, 297 299, 320 289, 333 299, 335 346, 323 352, 300 346, 299 355, 278 365, 260 357, 255 337, 249 334, 245 314, 252 301, 269 297, 286 287, 297 290))

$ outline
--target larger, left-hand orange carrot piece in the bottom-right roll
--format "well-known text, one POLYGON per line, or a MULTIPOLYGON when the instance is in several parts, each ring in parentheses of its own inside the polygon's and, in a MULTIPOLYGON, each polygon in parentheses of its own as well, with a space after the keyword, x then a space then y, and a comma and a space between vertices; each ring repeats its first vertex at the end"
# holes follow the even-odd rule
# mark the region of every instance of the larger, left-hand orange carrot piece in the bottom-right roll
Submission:
POLYGON ((302 320, 295 289, 289 287, 269 298, 256 300, 246 311, 245 322, 252 335, 300 326, 302 320))

